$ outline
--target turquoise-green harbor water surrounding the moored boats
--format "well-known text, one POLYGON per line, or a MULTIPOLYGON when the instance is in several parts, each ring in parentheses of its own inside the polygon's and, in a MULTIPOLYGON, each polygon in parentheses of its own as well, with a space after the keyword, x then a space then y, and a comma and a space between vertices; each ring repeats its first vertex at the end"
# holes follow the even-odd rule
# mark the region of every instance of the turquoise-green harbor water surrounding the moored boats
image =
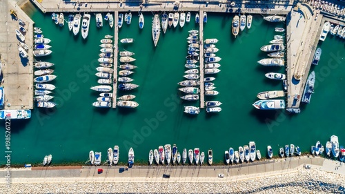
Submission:
MULTIPOLYGON (((105 23, 97 29, 92 14, 88 39, 83 41, 80 33, 72 35, 67 23, 59 28, 50 14, 30 10, 35 26, 43 35, 52 39, 52 55, 42 58, 55 63, 57 86, 55 110, 32 111, 27 121, 11 121, 12 164, 40 163, 44 155, 52 154, 53 162, 85 162, 90 150, 106 151, 115 144, 120 147, 120 161, 126 162, 128 148, 135 150, 136 161, 145 161, 150 149, 164 144, 177 144, 183 148, 199 147, 206 152, 213 148, 214 162, 221 162, 229 147, 255 141, 257 148, 266 153, 266 146, 273 146, 275 155, 280 146, 295 144, 302 151, 309 151, 318 140, 325 144, 335 134, 340 144, 345 144, 344 131, 344 39, 328 35, 322 47, 319 66, 312 67, 317 76, 315 94, 311 104, 302 105, 302 113, 289 115, 280 111, 259 111, 252 104, 256 95, 264 90, 282 90, 281 81, 268 80, 264 73, 284 72, 284 68, 268 68, 257 64, 267 53, 259 48, 273 39, 274 28, 284 26, 263 21, 254 15, 250 30, 240 32, 235 39, 230 33, 234 14, 208 14, 204 38, 217 38, 217 56, 221 57, 221 72, 214 81, 219 95, 206 100, 223 103, 219 114, 197 116, 183 113, 184 106, 197 103, 181 101, 177 82, 183 80, 186 37, 188 30, 198 28, 194 22, 184 28, 170 28, 163 33, 157 48, 151 35, 151 13, 145 13, 145 26, 138 28, 138 16, 133 12, 132 24, 124 24, 119 39, 132 37, 132 45, 119 45, 119 50, 135 52, 135 74, 130 76, 140 87, 130 92, 136 95, 139 107, 134 110, 99 109, 92 107, 98 94, 90 90, 97 85, 95 68, 98 66, 99 40, 113 34, 114 29, 105 23)), ((67 18, 67 15, 65 14, 67 18)), ((192 21, 194 19, 194 14, 192 21)), ((119 95, 129 94, 119 92, 119 95)), ((3 123, 4 126, 4 123, 3 123)), ((3 130, 2 130, 3 131, 3 130)), ((4 151, 4 146, 1 147, 4 151)), ((0 159, 5 164, 4 159, 0 159)))

